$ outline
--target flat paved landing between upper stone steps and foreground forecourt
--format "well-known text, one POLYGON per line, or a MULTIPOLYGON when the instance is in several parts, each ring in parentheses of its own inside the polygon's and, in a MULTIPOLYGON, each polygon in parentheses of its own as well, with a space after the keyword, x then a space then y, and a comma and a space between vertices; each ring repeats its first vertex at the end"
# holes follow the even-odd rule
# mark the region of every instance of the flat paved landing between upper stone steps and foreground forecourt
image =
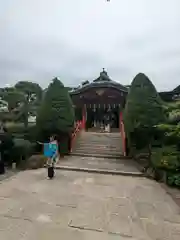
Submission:
POLYGON ((131 159, 108 159, 97 157, 68 156, 64 159, 60 159, 58 165, 140 174, 136 162, 132 161, 131 159))

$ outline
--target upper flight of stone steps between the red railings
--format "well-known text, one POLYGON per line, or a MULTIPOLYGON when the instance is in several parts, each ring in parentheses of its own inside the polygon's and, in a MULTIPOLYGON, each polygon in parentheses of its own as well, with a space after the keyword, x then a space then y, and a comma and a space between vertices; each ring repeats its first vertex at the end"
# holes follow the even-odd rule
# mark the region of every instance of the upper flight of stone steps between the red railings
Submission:
POLYGON ((80 132, 72 155, 97 158, 120 158, 122 142, 119 132, 80 132))

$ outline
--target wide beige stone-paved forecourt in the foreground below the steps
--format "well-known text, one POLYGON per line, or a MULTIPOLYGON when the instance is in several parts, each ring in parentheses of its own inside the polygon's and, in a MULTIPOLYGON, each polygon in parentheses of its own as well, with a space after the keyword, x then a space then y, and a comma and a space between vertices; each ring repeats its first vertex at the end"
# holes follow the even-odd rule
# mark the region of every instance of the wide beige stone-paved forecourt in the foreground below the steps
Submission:
POLYGON ((142 177, 24 171, 0 184, 0 239, 179 240, 179 208, 142 177))

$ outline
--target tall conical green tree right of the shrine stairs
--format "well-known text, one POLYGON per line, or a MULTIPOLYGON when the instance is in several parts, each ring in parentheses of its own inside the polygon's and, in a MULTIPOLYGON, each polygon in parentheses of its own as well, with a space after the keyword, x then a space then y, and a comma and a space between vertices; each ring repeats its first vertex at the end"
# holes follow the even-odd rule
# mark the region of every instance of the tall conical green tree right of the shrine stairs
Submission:
POLYGON ((125 130, 130 143, 148 145, 155 126, 164 121, 165 114, 154 85, 143 73, 132 81, 124 110, 125 130))

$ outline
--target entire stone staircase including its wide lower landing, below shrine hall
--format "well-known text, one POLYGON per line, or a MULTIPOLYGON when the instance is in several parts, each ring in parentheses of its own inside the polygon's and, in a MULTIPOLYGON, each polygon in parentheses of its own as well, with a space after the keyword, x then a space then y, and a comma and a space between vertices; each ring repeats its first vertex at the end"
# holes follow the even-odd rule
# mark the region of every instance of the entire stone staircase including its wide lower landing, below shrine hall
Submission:
POLYGON ((132 159, 123 156, 119 132, 81 131, 72 150, 71 156, 61 159, 56 169, 136 177, 143 175, 132 159))

